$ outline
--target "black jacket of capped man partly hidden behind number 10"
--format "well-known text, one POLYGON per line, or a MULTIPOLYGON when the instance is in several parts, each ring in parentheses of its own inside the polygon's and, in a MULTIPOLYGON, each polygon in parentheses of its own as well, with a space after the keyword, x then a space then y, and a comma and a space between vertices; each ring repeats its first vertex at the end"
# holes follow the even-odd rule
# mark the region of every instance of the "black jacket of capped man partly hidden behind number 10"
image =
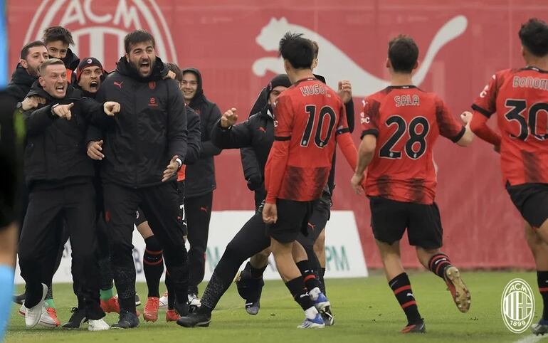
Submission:
POLYGON ((248 147, 251 150, 254 159, 252 163, 246 165, 244 174, 246 174, 246 179, 251 176, 255 182, 253 185, 255 207, 258 206, 266 196, 265 165, 270 147, 274 142, 274 120, 268 113, 267 107, 229 130, 223 129, 219 120, 211 130, 211 142, 221 149, 248 147))

